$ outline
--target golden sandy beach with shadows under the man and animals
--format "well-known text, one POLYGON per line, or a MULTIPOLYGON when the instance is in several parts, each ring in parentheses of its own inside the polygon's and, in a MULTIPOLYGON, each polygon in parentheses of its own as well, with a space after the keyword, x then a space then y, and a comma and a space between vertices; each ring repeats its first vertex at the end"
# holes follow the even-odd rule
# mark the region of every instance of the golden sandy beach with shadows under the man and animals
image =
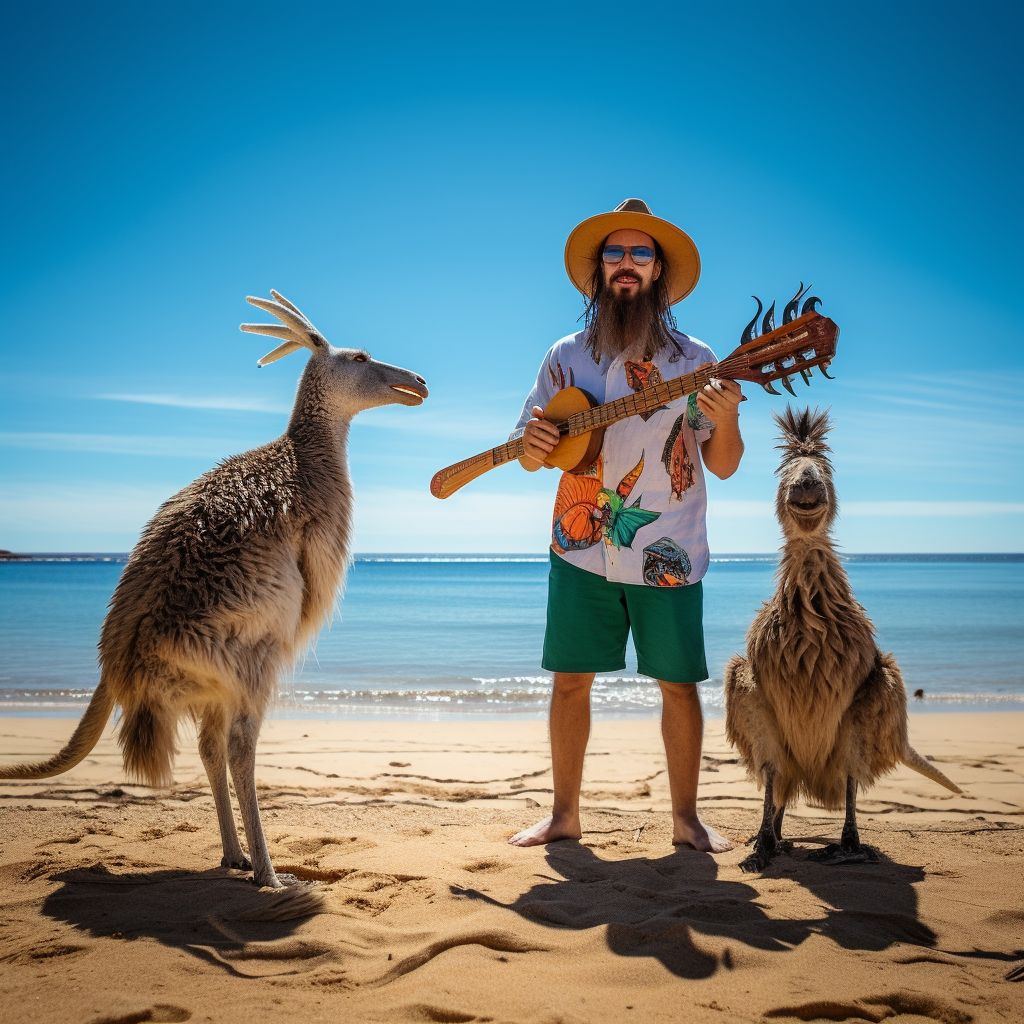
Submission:
MULTIPOLYGON (((5 718, 5 762, 68 719, 5 718)), ((283 894, 217 866, 183 735, 172 791, 127 784, 112 729, 67 775, 0 787, 0 1019, 1024 1019, 1024 715, 914 715, 966 791, 901 770, 859 805, 878 861, 740 871, 761 800, 708 723, 701 814, 736 849, 675 850, 654 720, 597 721, 582 843, 519 850, 548 806, 543 722, 271 721, 257 766, 283 894)))

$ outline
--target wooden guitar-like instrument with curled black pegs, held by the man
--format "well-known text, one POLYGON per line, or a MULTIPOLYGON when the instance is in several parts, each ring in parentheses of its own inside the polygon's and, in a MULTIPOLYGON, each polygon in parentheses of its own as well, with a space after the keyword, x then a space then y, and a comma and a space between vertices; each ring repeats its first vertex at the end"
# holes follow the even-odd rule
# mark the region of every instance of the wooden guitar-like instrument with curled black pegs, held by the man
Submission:
MULTIPOLYGON (((801 315, 793 318, 796 316, 796 303, 805 291, 801 284, 801 290, 785 307, 780 328, 774 325, 773 302, 762 324, 766 333, 760 336, 756 335, 756 329, 764 307, 755 296, 758 311, 743 332, 743 343, 721 362, 709 362, 693 373, 653 384, 601 406, 582 388, 562 388, 544 410, 544 419, 558 427, 561 437, 545 460, 545 465, 573 473, 583 472, 597 459, 604 441, 604 431, 612 423, 628 416, 653 412, 670 401, 693 394, 713 379, 751 381, 772 394, 779 393, 771 386, 772 381, 781 380, 783 387, 793 395, 796 391, 790 378, 795 374, 799 373, 809 384, 811 369, 819 367, 821 374, 831 380, 825 368, 836 354, 839 328, 827 316, 817 312, 814 307, 821 300, 815 297, 809 298, 801 315)), ((496 466, 521 459, 525 454, 520 432, 519 436, 498 447, 438 470, 430 481, 430 493, 434 498, 449 498, 470 480, 475 480, 496 466)))

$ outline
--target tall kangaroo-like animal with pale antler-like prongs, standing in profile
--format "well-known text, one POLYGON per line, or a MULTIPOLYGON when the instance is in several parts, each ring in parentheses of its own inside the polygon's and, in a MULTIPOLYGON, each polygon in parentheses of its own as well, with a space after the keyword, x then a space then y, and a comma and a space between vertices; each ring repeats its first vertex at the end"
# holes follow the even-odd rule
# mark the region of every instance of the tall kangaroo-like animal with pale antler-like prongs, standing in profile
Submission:
POLYGON ((100 680, 62 751, 0 768, 3 779, 58 775, 95 746, 115 705, 125 772, 168 785, 178 721, 199 728, 199 752, 217 809, 224 867, 280 888, 256 801, 256 740, 282 673, 329 617, 349 560, 352 483, 347 438, 365 409, 419 406, 422 377, 335 348, 283 295, 249 297, 278 324, 242 330, 282 341, 257 366, 300 348, 312 353, 288 429, 225 459, 168 499, 121 574, 99 640, 100 680), (249 856, 227 788, 230 768, 249 856))

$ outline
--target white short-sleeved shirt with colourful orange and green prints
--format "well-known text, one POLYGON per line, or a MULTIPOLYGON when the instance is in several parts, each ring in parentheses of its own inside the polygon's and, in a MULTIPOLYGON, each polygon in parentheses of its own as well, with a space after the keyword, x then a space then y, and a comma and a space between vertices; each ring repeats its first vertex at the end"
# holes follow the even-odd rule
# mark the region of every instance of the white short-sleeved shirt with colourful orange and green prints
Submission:
MULTIPOLYGON (((546 408, 563 387, 583 388, 603 404, 717 361, 695 338, 672 335, 675 346, 645 362, 620 356, 596 364, 584 348, 583 331, 555 342, 512 436, 530 420, 535 406, 546 408)), ((696 583, 710 561, 699 445, 714 429, 693 394, 611 424, 597 462, 582 473, 562 474, 552 550, 614 583, 696 583)))

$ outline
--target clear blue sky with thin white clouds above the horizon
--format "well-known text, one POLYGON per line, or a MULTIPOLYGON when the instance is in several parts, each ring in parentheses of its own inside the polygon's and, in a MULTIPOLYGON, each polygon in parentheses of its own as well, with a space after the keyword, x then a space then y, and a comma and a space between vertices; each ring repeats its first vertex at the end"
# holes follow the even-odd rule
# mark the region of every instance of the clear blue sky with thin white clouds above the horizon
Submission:
MULTIPOLYGON (((542 551, 554 473, 432 473, 502 440, 575 329, 562 249, 629 196, 703 273, 720 356, 813 282, 851 552, 1020 551, 1017 3, 7 3, 0 547, 120 551, 284 429, 247 294, 422 374, 351 435, 358 551, 542 551)), ((713 551, 778 543, 748 389, 713 551)))

